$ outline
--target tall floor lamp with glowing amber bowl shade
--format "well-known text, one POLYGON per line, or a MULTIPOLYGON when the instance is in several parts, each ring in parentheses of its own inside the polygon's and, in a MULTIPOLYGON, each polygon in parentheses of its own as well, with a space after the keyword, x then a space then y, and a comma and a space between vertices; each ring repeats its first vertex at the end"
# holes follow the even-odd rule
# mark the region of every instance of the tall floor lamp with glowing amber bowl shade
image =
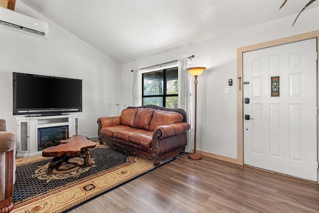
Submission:
POLYGON ((193 153, 190 153, 188 155, 188 158, 192 159, 192 160, 200 160, 201 159, 201 155, 196 153, 196 114, 197 114, 197 109, 196 109, 196 105, 197 105, 197 76, 200 75, 204 70, 206 69, 206 67, 190 67, 187 68, 186 70, 195 77, 194 80, 194 84, 195 84, 195 108, 194 108, 194 151, 193 153))

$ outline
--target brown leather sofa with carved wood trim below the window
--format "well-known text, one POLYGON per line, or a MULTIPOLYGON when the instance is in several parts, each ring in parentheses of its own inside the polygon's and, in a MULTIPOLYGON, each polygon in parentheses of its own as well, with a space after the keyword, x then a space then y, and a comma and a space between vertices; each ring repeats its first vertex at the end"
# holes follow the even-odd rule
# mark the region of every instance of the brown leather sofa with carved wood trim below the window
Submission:
POLYGON ((128 107, 121 116, 98 119, 100 144, 129 155, 143 155, 155 166, 185 151, 186 132, 190 129, 182 109, 156 105, 128 107))

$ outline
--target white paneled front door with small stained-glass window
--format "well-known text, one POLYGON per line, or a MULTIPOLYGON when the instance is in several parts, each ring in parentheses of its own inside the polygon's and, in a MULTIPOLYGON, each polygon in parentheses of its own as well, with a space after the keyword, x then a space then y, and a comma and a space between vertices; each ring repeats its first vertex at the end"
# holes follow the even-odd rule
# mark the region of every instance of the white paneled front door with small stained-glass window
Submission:
POLYGON ((244 164, 317 182, 317 39, 245 52, 243 74, 244 164))

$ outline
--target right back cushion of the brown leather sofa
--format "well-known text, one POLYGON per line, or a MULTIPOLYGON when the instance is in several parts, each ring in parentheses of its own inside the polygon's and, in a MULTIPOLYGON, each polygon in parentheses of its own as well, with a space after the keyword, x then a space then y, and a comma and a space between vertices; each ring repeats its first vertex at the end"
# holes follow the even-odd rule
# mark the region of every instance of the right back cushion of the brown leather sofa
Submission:
POLYGON ((158 126, 164 126, 181 122, 183 116, 178 112, 155 110, 150 125, 150 131, 154 131, 158 126))

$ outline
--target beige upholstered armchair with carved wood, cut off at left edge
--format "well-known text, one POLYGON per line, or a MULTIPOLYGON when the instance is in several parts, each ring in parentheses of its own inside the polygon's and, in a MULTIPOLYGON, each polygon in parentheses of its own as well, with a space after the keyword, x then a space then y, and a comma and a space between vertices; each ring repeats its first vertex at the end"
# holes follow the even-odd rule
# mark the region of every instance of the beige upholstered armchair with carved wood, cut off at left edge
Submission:
POLYGON ((15 180, 15 134, 6 132, 5 120, 0 119, 0 213, 13 209, 15 180))

